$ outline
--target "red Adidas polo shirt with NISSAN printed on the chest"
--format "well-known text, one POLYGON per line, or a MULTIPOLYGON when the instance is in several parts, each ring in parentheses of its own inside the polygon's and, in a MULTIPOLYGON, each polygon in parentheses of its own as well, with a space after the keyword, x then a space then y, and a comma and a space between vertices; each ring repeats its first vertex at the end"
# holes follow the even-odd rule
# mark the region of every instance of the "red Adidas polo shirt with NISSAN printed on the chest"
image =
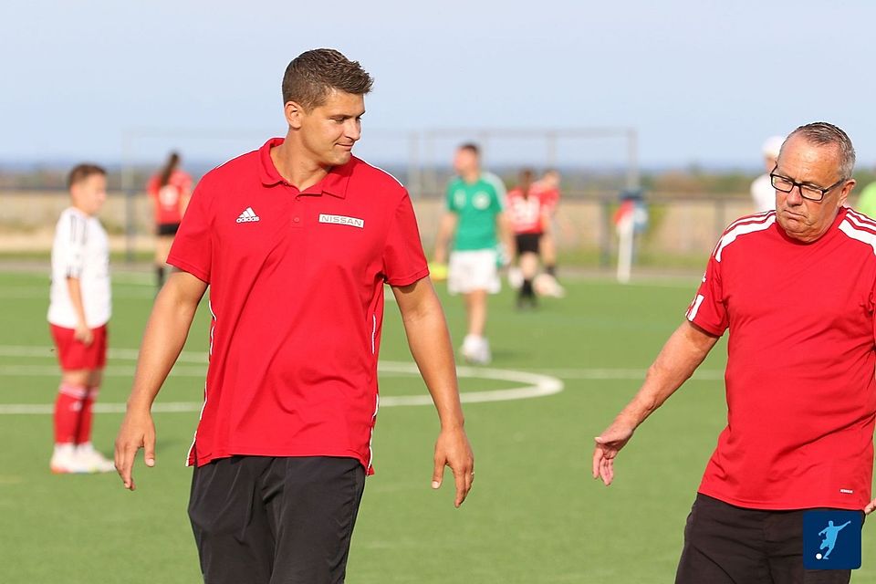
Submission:
POLYGON ((299 192, 267 141, 198 184, 168 262, 210 285, 189 464, 345 456, 371 470, 383 285, 428 275, 411 201, 357 158, 299 192))

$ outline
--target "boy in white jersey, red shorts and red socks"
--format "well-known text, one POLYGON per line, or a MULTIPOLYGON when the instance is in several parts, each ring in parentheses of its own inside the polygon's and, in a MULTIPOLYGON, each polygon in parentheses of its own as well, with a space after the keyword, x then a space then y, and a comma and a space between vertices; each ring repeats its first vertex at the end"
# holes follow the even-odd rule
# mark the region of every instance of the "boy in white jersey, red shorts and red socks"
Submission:
POLYGON ((107 198, 107 172, 79 164, 68 179, 70 206, 52 244, 48 322, 61 365, 55 402, 53 473, 115 470, 91 445, 92 407, 107 362, 110 245, 97 214, 107 198))

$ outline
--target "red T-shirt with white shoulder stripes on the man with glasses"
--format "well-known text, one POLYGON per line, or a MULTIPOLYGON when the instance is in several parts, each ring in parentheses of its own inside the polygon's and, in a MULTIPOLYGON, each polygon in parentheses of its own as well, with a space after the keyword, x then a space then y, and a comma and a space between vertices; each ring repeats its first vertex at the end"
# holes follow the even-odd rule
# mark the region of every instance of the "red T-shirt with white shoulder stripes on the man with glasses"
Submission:
POLYGON ((727 426, 700 493, 758 509, 870 502, 874 286, 876 223, 850 209, 810 244, 775 211, 730 225, 687 312, 730 331, 727 426))

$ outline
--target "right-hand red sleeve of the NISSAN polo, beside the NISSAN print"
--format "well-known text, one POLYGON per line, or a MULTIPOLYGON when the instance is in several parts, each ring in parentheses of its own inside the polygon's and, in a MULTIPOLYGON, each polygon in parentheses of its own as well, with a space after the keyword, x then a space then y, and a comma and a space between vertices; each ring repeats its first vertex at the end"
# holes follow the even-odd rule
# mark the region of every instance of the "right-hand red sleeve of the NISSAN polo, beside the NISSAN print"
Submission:
POLYGON ((413 213, 411 197, 407 192, 391 219, 390 231, 383 247, 383 276, 391 286, 408 286, 429 276, 417 217, 413 213))

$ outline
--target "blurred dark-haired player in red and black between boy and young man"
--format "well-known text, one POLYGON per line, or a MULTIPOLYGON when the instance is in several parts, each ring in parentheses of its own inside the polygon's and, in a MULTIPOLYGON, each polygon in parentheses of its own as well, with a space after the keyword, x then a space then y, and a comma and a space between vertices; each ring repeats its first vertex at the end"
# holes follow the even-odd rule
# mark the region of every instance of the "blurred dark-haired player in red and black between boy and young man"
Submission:
POLYGON ((161 288, 173 236, 180 228, 192 195, 192 177, 180 169, 179 153, 171 152, 162 170, 149 180, 146 191, 155 207, 155 274, 161 288))

